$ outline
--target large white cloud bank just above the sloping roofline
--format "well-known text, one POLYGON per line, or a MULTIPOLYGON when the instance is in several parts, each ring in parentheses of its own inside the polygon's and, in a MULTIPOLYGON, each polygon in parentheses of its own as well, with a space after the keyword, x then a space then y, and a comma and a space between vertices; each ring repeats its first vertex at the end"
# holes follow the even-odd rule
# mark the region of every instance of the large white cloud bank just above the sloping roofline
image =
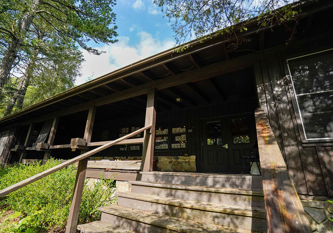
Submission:
POLYGON ((104 45, 100 50, 106 51, 101 55, 89 54, 83 51, 86 61, 83 64, 82 77, 78 77, 76 84, 82 84, 88 77, 97 78, 104 74, 110 73, 116 69, 149 57, 163 50, 172 48, 174 41, 169 38, 160 41, 152 34, 145 31, 137 33, 140 42, 136 45, 129 45, 129 37, 119 37, 119 42, 115 44, 104 45))

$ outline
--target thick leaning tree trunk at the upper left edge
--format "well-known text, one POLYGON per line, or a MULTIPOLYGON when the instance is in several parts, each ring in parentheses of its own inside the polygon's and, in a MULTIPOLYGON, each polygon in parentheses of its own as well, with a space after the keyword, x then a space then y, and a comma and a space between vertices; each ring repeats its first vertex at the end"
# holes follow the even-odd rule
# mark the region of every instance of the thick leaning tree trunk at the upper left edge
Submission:
POLYGON ((9 76, 10 70, 12 69, 12 65, 16 59, 17 52, 22 46, 21 39, 25 37, 27 31, 32 23, 36 15, 36 10, 38 9, 39 5, 41 5, 42 0, 33 0, 30 9, 24 15, 22 21, 18 22, 18 32, 14 32, 14 37, 9 44, 8 49, 5 52, 5 55, 2 58, 0 63, 0 92, 3 86, 5 85, 7 78, 9 76))

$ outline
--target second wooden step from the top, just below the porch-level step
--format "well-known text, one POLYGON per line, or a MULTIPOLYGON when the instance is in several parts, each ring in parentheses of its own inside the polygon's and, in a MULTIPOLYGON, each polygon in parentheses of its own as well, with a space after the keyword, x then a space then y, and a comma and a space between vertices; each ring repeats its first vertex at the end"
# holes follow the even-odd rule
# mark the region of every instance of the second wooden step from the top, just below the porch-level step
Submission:
POLYGON ((245 205, 265 207, 263 191, 226 187, 206 187, 196 185, 129 181, 133 193, 143 193, 178 199, 223 203, 225 205, 245 205))

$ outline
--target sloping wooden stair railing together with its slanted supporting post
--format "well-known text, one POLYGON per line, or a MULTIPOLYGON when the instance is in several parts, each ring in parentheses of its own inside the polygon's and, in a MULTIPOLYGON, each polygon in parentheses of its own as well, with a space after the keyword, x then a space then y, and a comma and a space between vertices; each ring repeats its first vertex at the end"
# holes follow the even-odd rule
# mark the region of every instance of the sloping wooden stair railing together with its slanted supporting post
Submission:
POLYGON ((79 216, 79 209, 80 209, 80 203, 81 203, 81 198, 82 198, 82 191, 83 191, 83 186, 84 186, 84 180, 86 176, 86 169, 87 169, 87 163, 88 163, 88 157, 96 154, 97 152, 100 152, 104 149, 109 148, 110 146, 116 145, 120 142, 122 142, 125 139, 128 139, 134 135, 137 135, 138 133, 141 133, 145 130, 149 130, 152 128, 152 125, 145 126, 139 130, 136 130, 124 137, 118 138, 117 140, 111 141, 109 143, 106 143, 103 146, 100 146, 96 149, 93 149, 91 151, 88 151, 84 154, 81 154, 73 159, 70 159, 64 163, 61 163, 57 166, 54 166, 46 171, 43 171, 41 173, 38 173, 32 177, 29 177, 25 180, 22 180, 16 184, 13 184, 5 189, 0 190, 0 197, 14 192, 15 190, 18 190, 28 184, 31 184, 32 182, 39 180, 47 175, 50 175, 56 171, 59 171, 62 168, 68 167, 69 165, 72 165, 76 162, 79 162, 78 168, 77 168, 77 174, 76 174, 76 180, 75 180, 75 186, 74 186, 74 193, 73 193, 73 198, 72 198, 72 203, 69 211, 69 216, 68 216, 68 221, 67 221, 67 226, 66 226, 66 233, 75 233, 76 232, 76 227, 77 227, 77 221, 78 221, 78 216, 79 216))

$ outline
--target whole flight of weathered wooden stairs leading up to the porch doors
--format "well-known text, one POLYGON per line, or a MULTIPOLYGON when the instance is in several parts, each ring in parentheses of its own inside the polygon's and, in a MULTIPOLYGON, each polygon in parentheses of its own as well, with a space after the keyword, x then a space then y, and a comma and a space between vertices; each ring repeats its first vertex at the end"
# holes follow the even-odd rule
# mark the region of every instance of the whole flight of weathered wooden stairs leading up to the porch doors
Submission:
POLYGON ((81 233, 266 232, 261 176, 141 172, 81 233), (225 184, 225 185, 224 185, 225 184))

